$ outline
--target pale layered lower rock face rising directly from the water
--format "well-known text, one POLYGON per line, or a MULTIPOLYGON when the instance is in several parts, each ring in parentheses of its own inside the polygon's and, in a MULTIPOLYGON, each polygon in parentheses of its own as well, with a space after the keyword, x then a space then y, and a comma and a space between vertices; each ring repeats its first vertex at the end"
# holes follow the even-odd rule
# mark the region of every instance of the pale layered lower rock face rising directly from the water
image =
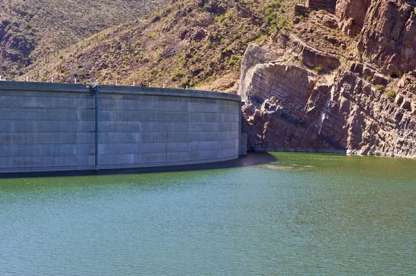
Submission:
POLYGON ((412 94, 389 101, 361 72, 338 69, 333 79, 320 78, 292 62, 268 62, 276 54, 252 45, 243 58, 239 94, 249 150, 416 155, 412 94))

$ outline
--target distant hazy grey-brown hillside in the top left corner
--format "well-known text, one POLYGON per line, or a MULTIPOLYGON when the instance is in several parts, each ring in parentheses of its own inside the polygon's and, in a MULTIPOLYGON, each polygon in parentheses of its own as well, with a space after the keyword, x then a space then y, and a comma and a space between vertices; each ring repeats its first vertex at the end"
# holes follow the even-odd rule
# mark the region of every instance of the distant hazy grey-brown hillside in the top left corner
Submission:
POLYGON ((0 0, 0 75, 12 79, 28 64, 105 28, 144 17, 167 0, 0 0))

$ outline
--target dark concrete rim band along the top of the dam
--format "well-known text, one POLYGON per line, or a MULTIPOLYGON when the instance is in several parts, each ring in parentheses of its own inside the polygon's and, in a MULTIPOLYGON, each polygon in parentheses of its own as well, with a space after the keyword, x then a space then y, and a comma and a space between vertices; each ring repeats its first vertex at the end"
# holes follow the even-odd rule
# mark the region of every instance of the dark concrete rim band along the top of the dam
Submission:
MULTIPOLYGON (((35 92, 65 92, 65 93, 92 93, 92 85, 74 83, 33 83, 18 81, 0 81, 0 90, 8 91, 35 91, 35 92)), ((225 92, 210 92, 193 89, 174 89, 162 87, 139 87, 121 85, 100 85, 101 94, 128 94, 151 96, 178 96, 190 98, 216 98, 227 101, 241 102, 241 96, 225 92)))

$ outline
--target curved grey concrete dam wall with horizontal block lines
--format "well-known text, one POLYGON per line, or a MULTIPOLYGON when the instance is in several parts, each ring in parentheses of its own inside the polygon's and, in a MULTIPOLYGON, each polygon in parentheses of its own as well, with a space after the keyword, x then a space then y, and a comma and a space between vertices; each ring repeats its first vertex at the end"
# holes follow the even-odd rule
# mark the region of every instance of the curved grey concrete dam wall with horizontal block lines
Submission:
MULTIPOLYGON (((94 170, 95 98, 86 85, 0 82, 0 173, 94 170)), ((240 96, 100 86, 98 167, 235 159, 240 96)))

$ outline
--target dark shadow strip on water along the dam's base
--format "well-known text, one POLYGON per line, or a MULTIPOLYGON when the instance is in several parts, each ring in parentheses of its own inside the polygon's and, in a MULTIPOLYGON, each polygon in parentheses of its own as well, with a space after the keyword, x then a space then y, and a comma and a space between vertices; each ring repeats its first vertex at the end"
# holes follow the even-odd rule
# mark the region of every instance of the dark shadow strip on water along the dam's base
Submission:
POLYGON ((237 159, 214 162, 206 164, 193 164, 181 166, 160 166, 153 168, 137 168, 137 169, 110 169, 100 171, 45 171, 31 173, 0 173, 1 178, 48 178, 62 176, 85 176, 85 175, 118 175, 118 174, 136 174, 136 173, 166 173, 173 171, 201 171, 212 169, 232 169, 245 166, 258 166, 276 162, 277 159, 266 152, 251 152, 248 155, 240 156, 237 159))

